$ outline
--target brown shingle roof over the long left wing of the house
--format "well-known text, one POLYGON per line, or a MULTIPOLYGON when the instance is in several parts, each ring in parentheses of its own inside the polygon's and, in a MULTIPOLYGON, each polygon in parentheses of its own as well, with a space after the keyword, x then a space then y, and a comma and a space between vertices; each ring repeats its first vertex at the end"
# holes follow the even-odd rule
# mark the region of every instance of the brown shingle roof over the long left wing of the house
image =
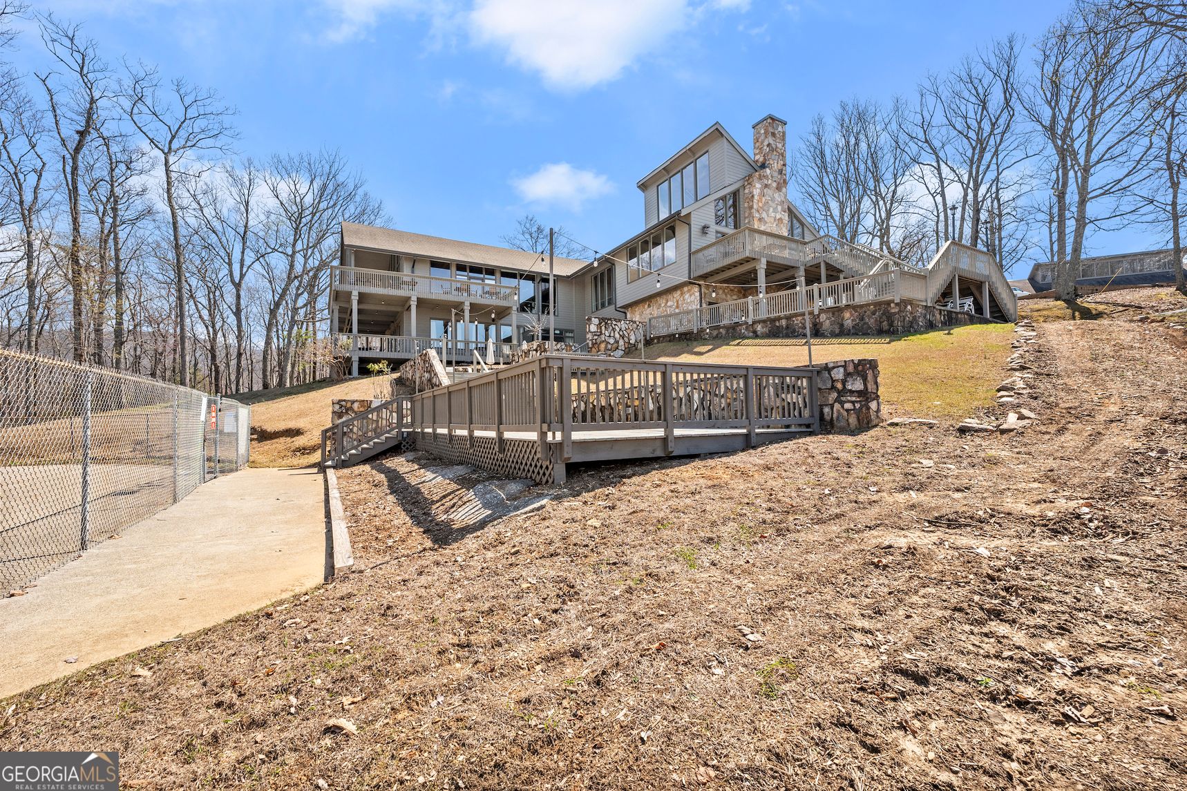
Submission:
MULTIPOLYGON (((531 270, 533 272, 548 271, 547 255, 545 255, 541 267, 539 253, 495 247, 494 245, 478 245, 476 242, 444 239, 442 236, 412 234, 407 230, 395 230, 394 228, 362 226, 356 222, 342 223, 342 245, 344 247, 395 253, 399 255, 414 255, 417 258, 432 258, 444 261, 482 264, 483 266, 497 266, 521 271, 531 270)), ((558 276, 569 277, 576 274, 578 270, 588 264, 589 261, 575 258, 560 258, 558 255, 554 259, 554 270, 558 276)))

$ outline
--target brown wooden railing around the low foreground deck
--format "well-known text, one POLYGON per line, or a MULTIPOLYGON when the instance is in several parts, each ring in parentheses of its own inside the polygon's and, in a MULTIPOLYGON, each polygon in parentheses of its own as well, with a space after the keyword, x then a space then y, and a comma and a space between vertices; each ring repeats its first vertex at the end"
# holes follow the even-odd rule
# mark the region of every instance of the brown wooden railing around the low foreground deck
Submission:
MULTIPOLYGON (((413 431, 559 442, 575 431, 819 428, 815 371, 545 355, 411 397, 413 431), (508 437, 508 435, 516 435, 508 437)), ((541 457, 547 457, 544 455, 541 457)))

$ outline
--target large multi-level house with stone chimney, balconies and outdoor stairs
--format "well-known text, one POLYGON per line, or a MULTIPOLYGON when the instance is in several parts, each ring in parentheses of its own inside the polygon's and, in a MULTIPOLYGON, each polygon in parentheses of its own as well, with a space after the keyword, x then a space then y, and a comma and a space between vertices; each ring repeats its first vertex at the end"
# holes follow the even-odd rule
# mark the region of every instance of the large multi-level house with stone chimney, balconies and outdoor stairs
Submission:
POLYGON ((747 151, 713 124, 637 182, 639 233, 592 261, 557 258, 551 276, 547 255, 343 223, 329 292, 338 348, 357 374, 425 348, 465 365, 550 336, 580 346, 590 317, 661 335, 794 305, 907 300, 1014 319, 1015 295, 984 251, 947 242, 916 267, 818 233, 787 197, 786 126, 767 115, 747 151))

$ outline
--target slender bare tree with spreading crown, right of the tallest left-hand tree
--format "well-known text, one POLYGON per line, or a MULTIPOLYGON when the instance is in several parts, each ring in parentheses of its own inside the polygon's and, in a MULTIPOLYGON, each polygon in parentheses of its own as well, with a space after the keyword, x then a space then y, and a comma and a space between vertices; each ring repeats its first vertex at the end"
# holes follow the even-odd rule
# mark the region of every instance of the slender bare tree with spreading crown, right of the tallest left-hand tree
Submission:
POLYGON ((145 143, 161 158, 163 197, 169 210, 172 235, 173 285, 177 290, 177 371, 182 385, 189 384, 189 340, 186 337, 185 248, 182 235, 183 195, 179 182, 197 173, 186 170, 199 158, 226 153, 234 137, 229 126, 233 110, 224 106, 212 90, 190 84, 178 77, 167 87, 161 86, 155 69, 128 67, 128 78, 122 86, 125 112, 144 137, 145 143))

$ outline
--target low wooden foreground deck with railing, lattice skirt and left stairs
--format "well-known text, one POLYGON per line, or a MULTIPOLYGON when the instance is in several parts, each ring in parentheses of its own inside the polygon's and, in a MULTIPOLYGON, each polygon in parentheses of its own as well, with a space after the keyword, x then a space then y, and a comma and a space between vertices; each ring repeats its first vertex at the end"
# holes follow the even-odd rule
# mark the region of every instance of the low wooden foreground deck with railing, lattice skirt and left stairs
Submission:
POLYGON ((812 368, 545 355, 344 420, 326 430, 329 444, 323 432, 323 462, 394 425, 444 458, 563 483, 570 462, 724 453, 814 434, 815 376, 812 368))

